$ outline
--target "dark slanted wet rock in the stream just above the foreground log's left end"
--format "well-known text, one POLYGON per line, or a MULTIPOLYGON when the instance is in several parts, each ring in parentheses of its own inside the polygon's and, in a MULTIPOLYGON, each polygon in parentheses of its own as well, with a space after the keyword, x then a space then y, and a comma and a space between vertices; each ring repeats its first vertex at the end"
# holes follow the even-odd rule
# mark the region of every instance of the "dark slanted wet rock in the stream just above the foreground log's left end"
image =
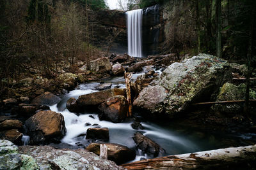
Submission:
POLYGON ((132 137, 140 150, 148 155, 153 155, 154 157, 161 156, 165 153, 164 149, 161 148, 157 143, 147 138, 141 132, 136 132, 134 137, 132 137))

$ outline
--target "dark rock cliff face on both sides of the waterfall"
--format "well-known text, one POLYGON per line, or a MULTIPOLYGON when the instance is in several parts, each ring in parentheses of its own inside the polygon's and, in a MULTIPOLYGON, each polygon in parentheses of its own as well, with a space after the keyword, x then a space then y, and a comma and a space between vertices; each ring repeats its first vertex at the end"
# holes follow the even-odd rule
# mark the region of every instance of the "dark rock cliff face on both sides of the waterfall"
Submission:
MULTIPOLYGON (((143 55, 179 52, 179 46, 189 46, 196 40, 195 21, 191 20, 193 5, 190 1, 170 0, 162 6, 143 9, 143 55)), ((94 32, 96 44, 113 41, 111 52, 127 52, 126 15, 124 11, 100 10, 95 14, 94 32), (106 36, 107 35, 107 36, 106 36), (106 38, 107 37, 107 38, 106 38), (98 42, 98 43, 97 43, 98 42), (100 43, 99 43, 100 42, 100 43)), ((105 43, 105 44, 106 44, 105 43)), ((181 49, 180 49, 181 50, 181 49)))

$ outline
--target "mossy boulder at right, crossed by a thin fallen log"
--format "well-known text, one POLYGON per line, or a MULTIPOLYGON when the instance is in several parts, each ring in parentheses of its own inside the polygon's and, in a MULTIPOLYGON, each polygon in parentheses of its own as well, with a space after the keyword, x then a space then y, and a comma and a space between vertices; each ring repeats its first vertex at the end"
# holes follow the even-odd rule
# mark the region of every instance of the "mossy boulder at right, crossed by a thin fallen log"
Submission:
MULTIPOLYGON (((236 86, 232 83, 225 83, 221 88, 216 98, 216 101, 237 101, 244 100, 246 85, 244 83, 236 86)), ((250 89, 250 99, 256 99, 256 91, 250 89)), ((214 104, 211 109, 220 113, 230 113, 232 115, 243 111, 243 103, 230 104, 214 104)))

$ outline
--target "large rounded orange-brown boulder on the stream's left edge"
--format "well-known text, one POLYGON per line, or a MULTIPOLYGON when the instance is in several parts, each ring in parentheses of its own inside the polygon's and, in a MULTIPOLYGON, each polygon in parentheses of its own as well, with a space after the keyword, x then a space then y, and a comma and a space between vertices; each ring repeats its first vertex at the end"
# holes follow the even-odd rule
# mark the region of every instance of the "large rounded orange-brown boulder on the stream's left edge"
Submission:
POLYGON ((60 141, 66 134, 64 117, 54 111, 39 111, 28 120, 25 127, 33 144, 60 141))

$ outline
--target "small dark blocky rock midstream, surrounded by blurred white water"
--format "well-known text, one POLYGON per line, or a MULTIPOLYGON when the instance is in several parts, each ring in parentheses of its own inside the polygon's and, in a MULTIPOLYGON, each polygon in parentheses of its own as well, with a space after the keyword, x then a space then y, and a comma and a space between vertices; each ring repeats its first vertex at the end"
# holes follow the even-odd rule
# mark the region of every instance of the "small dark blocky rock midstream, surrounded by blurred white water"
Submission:
POLYGON ((109 140, 108 128, 89 128, 86 131, 86 139, 103 139, 104 141, 109 140))

